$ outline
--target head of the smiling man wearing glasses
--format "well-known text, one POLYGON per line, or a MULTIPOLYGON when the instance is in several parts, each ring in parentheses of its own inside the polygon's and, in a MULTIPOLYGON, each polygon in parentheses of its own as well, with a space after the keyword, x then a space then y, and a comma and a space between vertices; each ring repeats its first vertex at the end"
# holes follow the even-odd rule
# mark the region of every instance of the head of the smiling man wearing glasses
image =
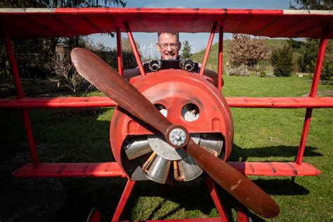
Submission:
POLYGON ((162 59, 177 59, 181 43, 179 42, 178 33, 162 32, 158 33, 157 51, 161 54, 162 59))

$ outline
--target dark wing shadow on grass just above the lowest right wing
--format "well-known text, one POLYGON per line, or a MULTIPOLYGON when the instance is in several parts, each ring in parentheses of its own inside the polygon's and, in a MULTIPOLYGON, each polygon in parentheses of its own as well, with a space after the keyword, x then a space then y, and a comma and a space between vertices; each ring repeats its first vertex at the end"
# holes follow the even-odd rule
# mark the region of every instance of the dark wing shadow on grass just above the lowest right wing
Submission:
MULTIPOLYGON (((228 160, 245 162, 249 157, 294 157, 296 159, 298 150, 298 146, 286 145, 244 149, 234 143, 228 160)), ((306 147, 304 157, 321 157, 322 154, 317 150, 318 148, 306 147)))

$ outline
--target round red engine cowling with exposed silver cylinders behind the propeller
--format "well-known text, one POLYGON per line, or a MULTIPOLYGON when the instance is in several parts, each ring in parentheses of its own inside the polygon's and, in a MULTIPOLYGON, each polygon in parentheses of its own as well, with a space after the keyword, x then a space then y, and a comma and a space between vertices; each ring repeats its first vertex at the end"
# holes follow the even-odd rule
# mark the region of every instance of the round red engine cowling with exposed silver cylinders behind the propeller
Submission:
MULTIPOLYGON (((173 124, 185 126, 195 143, 228 159, 233 145, 230 109, 207 79, 185 70, 160 70, 133 85, 173 124)), ((184 150, 172 148, 161 133, 121 107, 112 117, 110 141, 116 161, 133 180, 190 181, 202 174, 184 150)))

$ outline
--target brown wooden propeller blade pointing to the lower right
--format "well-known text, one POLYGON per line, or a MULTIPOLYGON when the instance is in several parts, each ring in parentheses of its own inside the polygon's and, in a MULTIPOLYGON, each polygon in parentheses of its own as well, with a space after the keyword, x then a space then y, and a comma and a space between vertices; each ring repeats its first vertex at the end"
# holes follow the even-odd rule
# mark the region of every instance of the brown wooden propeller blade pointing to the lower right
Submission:
POLYGON ((265 218, 278 216, 280 213, 278 204, 233 166, 201 148, 192 139, 188 142, 186 152, 218 185, 247 208, 265 218))

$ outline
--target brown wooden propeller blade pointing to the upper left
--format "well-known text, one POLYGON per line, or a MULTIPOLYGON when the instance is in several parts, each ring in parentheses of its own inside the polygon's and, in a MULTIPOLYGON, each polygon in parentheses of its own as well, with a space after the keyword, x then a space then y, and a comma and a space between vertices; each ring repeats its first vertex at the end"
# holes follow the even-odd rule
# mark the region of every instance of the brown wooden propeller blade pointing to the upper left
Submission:
POLYGON ((169 127, 173 126, 145 96, 98 55, 85 48, 74 48, 70 55, 74 67, 84 79, 131 115, 154 127, 164 136, 169 127))

